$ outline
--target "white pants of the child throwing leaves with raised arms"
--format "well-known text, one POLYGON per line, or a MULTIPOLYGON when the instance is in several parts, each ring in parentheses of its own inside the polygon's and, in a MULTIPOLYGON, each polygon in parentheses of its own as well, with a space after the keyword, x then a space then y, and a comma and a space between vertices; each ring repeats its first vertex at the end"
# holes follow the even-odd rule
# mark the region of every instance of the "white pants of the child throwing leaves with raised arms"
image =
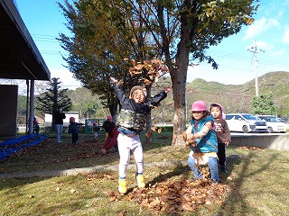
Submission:
POLYGON ((118 153, 119 153, 119 177, 126 178, 126 168, 129 164, 130 153, 135 157, 137 173, 144 172, 144 152, 139 135, 127 137, 123 133, 119 133, 117 137, 118 153))

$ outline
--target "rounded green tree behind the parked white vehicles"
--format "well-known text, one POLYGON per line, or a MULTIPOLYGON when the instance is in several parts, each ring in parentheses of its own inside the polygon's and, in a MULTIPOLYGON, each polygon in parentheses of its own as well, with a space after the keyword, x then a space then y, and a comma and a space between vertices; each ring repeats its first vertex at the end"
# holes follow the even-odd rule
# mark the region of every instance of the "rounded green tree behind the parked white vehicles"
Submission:
POLYGON ((272 99, 272 94, 260 94, 258 97, 254 97, 252 101, 254 114, 268 114, 275 115, 276 106, 272 99))

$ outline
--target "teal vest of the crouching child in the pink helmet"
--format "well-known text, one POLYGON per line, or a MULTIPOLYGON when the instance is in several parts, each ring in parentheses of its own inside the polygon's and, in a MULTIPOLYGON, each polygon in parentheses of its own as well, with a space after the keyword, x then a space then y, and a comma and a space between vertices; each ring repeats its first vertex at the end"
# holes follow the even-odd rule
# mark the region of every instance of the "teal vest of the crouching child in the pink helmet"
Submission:
MULTIPOLYGON (((191 126, 192 126, 192 133, 195 134, 199 132, 202 127, 208 122, 211 121, 214 123, 214 118, 212 115, 202 118, 199 121, 192 120, 191 126)), ((204 136, 202 139, 197 139, 197 148, 191 148, 192 151, 198 151, 201 153, 206 152, 217 152, 218 151, 218 140, 216 136, 215 130, 211 129, 207 133, 206 136, 204 136)))

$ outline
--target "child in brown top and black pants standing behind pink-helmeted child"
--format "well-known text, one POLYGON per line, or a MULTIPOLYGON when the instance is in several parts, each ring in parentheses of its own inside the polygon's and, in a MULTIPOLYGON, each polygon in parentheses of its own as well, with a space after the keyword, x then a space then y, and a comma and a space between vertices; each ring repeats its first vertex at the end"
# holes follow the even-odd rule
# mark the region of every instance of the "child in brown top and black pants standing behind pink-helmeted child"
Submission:
POLYGON ((227 173, 226 146, 231 142, 231 134, 225 120, 224 108, 219 103, 210 103, 210 113, 214 117, 215 131, 218 139, 219 170, 227 173))

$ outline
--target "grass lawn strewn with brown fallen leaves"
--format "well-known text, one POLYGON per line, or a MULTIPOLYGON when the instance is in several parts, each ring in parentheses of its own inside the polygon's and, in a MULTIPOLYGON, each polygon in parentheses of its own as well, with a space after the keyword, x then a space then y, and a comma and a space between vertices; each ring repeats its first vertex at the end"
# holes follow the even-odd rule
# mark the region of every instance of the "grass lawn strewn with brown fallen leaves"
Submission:
MULTIPOLYGON (((61 144, 54 137, 0 162, 0 174, 118 164, 116 152, 99 154, 104 137, 80 134, 76 146, 69 134, 61 144)), ((191 183, 186 163, 152 166, 186 161, 189 149, 173 148, 170 133, 154 133, 150 144, 142 139, 147 188, 136 189, 135 168, 125 195, 117 193, 116 170, 0 179, 0 215, 288 215, 289 152, 228 147, 228 174, 220 173, 219 185, 202 185, 191 183)))

